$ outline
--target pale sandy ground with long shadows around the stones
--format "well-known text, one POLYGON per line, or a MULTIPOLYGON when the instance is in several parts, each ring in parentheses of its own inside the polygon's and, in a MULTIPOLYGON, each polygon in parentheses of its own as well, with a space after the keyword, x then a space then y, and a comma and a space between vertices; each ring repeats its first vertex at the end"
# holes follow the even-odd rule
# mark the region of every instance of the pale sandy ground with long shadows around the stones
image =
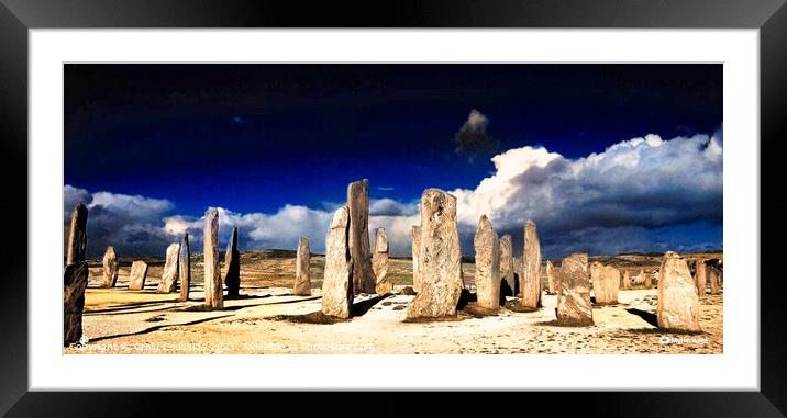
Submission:
MULTIPOLYGON (((243 259, 242 259, 243 260, 243 259)), ((321 270, 312 259, 312 269, 321 270)), ((242 297, 225 301, 219 312, 200 310, 201 283, 192 284, 187 303, 178 295, 158 294, 160 267, 151 268, 143 291, 126 289, 129 269, 121 269, 118 286, 97 289, 99 268, 90 269, 86 293, 82 347, 66 353, 722 353, 722 295, 700 301, 701 334, 670 334, 654 326, 656 290, 621 291, 614 306, 594 308, 595 326, 554 324, 556 296, 544 294, 534 313, 501 309, 497 316, 461 315, 461 320, 404 323, 413 296, 361 295, 358 315, 335 324, 293 321, 291 316, 320 310, 319 281, 312 296, 292 296, 290 260, 277 261, 280 271, 269 280, 266 270, 242 263, 242 297), (280 266, 279 266, 280 264, 280 266), (253 276, 247 273, 256 274, 253 276), (289 282, 289 283, 287 283, 289 282), (290 316, 290 317, 288 317, 290 316)), ((295 260, 291 260, 292 269, 295 260)), ((394 260, 403 287, 409 261, 394 260)), ((472 267, 472 266, 470 266, 472 267)), ((466 269, 470 270, 470 269, 466 269)), ((318 271, 314 271, 318 273, 318 271)), ((321 271, 319 271, 321 273, 321 271)), ((321 276, 321 274, 320 274, 321 276)))

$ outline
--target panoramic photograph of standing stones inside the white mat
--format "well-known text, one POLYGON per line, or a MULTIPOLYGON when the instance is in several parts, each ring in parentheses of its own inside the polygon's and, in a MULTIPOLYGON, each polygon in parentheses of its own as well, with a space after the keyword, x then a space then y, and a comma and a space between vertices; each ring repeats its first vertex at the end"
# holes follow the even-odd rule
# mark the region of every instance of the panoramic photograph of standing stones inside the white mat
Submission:
POLYGON ((63 353, 723 354, 723 67, 64 63, 63 353))

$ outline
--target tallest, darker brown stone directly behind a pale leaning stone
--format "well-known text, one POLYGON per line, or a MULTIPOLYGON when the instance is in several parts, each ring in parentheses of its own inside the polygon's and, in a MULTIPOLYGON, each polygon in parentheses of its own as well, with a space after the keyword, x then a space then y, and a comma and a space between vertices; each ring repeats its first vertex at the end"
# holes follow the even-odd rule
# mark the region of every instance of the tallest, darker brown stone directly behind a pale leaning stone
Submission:
POLYGON ((375 293, 377 280, 372 269, 369 250, 369 181, 364 179, 347 185, 350 208, 350 257, 353 258, 353 290, 375 293))

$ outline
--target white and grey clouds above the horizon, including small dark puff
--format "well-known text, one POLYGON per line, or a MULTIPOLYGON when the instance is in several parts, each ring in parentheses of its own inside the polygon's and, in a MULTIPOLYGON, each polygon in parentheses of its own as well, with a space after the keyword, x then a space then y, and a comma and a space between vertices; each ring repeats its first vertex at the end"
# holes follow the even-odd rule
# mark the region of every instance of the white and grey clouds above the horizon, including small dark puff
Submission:
MULTIPOLYGON (((486 135, 488 121, 476 113, 462 129, 486 135)), ((647 135, 578 159, 529 146, 498 154, 491 158, 495 172, 475 189, 451 191, 458 201, 463 252, 473 253, 481 214, 499 235, 511 234, 518 250, 522 225, 533 219, 548 257, 720 248, 722 148, 720 131, 670 140, 647 135)), ((409 256, 410 230, 420 223, 419 200, 372 197, 369 233, 385 227, 391 255, 409 256)), ((203 218, 175 213, 166 199, 65 185, 64 202, 66 226, 76 203, 87 204, 91 257, 100 257, 108 245, 121 256, 163 255, 186 231, 192 236, 192 251, 201 251, 203 218)), ((312 250, 322 252, 330 207, 288 204, 270 214, 218 207, 220 244, 223 247, 231 227, 237 226, 242 249, 295 249, 298 238, 307 237, 312 250)))

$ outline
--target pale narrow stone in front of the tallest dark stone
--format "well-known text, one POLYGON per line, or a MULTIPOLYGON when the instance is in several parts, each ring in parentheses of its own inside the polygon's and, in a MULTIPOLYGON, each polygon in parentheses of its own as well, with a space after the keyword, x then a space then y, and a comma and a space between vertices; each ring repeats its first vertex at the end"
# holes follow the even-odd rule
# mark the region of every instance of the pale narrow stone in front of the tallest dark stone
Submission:
POLYGON ((340 207, 325 237, 325 271, 322 280, 322 313, 350 318, 353 305, 353 260, 350 258, 350 210, 340 207))

